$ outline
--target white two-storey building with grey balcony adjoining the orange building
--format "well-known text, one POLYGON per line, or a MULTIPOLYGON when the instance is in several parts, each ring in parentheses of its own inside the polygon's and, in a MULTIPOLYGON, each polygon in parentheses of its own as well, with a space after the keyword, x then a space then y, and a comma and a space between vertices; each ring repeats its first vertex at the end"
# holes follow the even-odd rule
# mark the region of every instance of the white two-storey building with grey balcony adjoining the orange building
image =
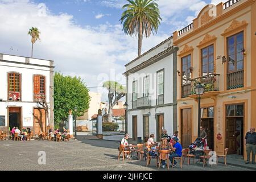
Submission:
POLYGON ((163 129, 169 135, 176 122, 176 52, 172 37, 126 64, 127 133, 146 140, 163 129))

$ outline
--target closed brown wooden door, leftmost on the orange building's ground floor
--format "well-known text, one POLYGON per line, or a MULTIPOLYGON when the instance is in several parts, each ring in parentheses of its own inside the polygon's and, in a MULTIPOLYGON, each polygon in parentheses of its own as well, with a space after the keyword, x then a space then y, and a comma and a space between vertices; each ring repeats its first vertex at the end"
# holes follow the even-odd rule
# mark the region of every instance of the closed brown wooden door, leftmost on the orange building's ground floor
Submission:
POLYGON ((181 144, 182 146, 188 147, 192 142, 192 109, 181 110, 181 144))

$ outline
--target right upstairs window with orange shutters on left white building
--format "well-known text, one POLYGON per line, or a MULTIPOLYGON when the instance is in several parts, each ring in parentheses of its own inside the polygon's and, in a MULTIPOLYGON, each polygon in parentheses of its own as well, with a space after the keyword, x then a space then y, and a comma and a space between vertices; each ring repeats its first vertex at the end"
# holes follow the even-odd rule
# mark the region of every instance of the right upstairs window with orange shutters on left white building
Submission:
POLYGON ((46 95, 46 77, 34 76, 34 101, 39 101, 46 95))

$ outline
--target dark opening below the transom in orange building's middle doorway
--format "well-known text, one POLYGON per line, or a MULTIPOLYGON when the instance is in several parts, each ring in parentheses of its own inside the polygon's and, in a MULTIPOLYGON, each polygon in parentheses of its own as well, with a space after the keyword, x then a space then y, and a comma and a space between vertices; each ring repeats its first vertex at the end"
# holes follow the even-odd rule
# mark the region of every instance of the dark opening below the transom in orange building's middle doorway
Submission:
POLYGON ((214 131, 213 131, 213 118, 208 119, 201 119, 201 126, 205 129, 205 132, 207 133, 207 144, 210 149, 214 150, 214 131))

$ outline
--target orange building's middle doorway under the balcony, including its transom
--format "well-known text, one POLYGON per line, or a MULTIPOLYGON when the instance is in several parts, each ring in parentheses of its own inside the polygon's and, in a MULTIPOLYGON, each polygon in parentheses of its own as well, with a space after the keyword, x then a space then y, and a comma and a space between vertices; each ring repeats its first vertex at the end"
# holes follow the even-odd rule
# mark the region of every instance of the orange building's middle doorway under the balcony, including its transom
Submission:
POLYGON ((201 108, 201 126, 207 133, 207 145, 214 150, 214 107, 201 108))

